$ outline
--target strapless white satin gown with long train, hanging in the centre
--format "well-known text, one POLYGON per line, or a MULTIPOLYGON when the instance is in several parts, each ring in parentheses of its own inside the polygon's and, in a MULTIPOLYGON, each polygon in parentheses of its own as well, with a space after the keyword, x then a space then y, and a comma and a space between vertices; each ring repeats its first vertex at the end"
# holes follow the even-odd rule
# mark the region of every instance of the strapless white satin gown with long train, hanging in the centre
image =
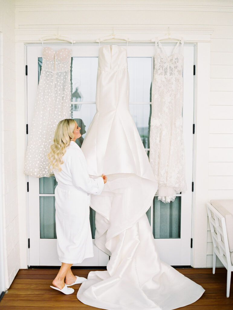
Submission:
POLYGON ((88 274, 77 298, 109 310, 175 309, 199 299, 204 289, 159 259, 145 214, 157 183, 128 100, 127 52, 105 45, 99 50, 97 112, 81 149, 89 175, 108 177, 101 195, 91 196, 91 207, 95 244, 111 258, 107 271, 88 274))

